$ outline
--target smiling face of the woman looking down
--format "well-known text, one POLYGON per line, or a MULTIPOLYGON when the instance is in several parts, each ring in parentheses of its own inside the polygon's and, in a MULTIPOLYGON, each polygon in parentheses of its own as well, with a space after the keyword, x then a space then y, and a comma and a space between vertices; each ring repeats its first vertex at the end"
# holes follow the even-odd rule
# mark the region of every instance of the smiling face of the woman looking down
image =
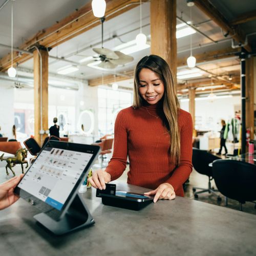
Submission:
POLYGON ((164 94, 164 84, 159 76, 150 69, 142 69, 139 73, 139 93, 149 104, 156 104, 164 94))

